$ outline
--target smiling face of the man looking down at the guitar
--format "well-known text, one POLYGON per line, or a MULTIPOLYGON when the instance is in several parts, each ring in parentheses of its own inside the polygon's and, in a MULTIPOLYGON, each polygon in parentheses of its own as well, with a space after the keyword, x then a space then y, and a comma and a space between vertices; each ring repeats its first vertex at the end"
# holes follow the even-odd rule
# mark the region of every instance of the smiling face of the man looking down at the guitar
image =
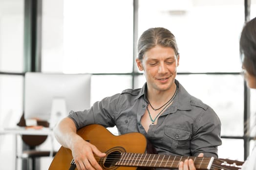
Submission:
POLYGON ((136 59, 136 62, 139 70, 144 70, 149 91, 167 91, 174 85, 179 56, 171 47, 156 46, 145 52, 142 61, 136 59))

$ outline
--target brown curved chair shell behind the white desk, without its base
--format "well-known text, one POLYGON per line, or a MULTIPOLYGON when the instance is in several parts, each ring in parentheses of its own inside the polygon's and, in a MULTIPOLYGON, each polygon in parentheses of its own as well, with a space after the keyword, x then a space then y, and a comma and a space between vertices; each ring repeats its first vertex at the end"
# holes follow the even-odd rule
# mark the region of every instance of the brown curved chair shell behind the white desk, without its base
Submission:
MULTIPOLYGON (((37 124, 41 125, 43 127, 49 127, 49 122, 47 121, 41 121, 41 120, 37 120, 37 124)), ((21 119, 19 121, 19 123, 17 123, 18 126, 26 126, 26 120, 24 119, 24 113, 21 116, 21 119)), ((40 144, 42 144, 46 138, 47 135, 22 135, 21 136, 22 141, 27 144, 30 148, 34 148, 40 144)))

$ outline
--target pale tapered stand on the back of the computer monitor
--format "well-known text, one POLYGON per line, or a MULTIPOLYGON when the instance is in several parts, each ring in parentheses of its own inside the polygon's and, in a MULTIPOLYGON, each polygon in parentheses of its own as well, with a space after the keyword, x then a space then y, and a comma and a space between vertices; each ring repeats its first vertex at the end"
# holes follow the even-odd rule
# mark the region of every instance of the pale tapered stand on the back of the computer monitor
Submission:
POLYGON ((61 119, 67 116, 64 98, 53 98, 51 106, 50 127, 53 128, 61 119))

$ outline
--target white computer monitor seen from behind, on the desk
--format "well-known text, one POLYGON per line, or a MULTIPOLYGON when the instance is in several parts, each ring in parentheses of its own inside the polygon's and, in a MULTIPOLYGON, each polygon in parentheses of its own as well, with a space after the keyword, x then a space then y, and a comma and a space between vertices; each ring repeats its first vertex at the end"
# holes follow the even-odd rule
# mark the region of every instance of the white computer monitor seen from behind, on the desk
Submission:
POLYGON ((90 107, 90 74, 27 72, 24 82, 24 118, 54 126, 70 110, 90 107))

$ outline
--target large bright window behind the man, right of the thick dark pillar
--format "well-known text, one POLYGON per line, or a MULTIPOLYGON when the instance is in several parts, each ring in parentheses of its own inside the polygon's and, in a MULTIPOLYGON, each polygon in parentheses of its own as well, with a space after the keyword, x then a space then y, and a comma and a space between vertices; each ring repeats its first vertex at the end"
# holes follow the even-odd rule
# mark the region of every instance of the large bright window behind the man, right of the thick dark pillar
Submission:
MULTIPOLYGON (((166 27, 179 47, 177 80, 215 110, 225 145, 237 141, 244 148, 238 47, 243 1, 64 0, 54 2, 57 9, 52 3, 43 1, 43 72, 92 73, 92 103, 125 88, 139 88, 145 78, 136 67, 133 71, 136 37, 149 27, 166 27), (234 117, 235 126, 230 123, 234 117)), ((226 156, 225 148, 220 147, 219 157, 226 156)), ((234 153, 235 159, 246 157, 242 150, 234 153)))

